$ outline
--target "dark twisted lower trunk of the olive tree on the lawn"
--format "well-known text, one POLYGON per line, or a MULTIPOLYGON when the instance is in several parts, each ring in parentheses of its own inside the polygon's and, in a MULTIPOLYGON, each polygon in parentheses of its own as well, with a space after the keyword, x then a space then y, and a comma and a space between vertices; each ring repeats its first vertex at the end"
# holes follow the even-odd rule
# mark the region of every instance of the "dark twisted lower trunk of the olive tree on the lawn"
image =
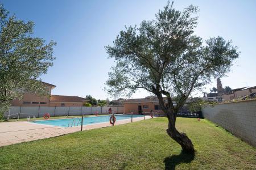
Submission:
POLYGON ((168 124, 168 129, 166 130, 167 134, 174 139, 179 145, 182 147, 183 152, 188 152, 188 153, 194 153, 194 146, 191 140, 187 137, 185 133, 179 133, 177 129, 175 128, 175 123, 172 124, 169 121, 168 124))

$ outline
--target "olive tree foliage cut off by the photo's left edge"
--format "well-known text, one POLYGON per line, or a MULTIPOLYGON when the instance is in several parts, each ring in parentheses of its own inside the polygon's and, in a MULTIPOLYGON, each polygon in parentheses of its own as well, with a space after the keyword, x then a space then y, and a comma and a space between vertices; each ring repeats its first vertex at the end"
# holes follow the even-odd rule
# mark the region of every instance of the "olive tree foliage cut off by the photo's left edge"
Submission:
POLYGON ((0 112, 4 112, 26 91, 46 92, 38 78, 52 66, 55 42, 32 37, 34 23, 10 16, 1 4, 0 24, 0 112))

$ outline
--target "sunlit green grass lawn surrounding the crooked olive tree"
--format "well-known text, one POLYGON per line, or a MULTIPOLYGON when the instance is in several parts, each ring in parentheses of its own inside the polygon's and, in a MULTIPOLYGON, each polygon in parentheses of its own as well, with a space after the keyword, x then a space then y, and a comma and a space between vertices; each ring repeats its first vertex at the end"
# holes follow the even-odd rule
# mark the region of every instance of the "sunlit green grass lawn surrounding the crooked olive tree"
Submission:
POLYGON ((167 118, 0 147, 0 169, 256 169, 256 148, 207 120, 177 118, 195 155, 166 134, 167 118))

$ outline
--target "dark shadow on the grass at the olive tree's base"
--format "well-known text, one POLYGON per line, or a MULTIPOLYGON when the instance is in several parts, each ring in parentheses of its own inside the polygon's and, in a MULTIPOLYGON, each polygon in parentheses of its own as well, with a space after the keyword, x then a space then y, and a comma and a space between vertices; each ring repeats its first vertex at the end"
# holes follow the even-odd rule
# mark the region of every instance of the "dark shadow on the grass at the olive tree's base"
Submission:
POLYGON ((180 155, 168 156, 164 159, 166 169, 175 169, 180 163, 190 163, 195 158, 195 154, 181 152, 180 155))

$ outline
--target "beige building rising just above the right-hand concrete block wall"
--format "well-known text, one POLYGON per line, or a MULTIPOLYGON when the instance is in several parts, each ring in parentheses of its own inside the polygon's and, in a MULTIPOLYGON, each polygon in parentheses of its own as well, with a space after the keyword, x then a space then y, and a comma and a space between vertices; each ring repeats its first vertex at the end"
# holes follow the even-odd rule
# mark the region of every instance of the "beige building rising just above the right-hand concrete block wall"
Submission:
POLYGON ((233 100, 239 97, 250 95, 251 93, 254 93, 254 92, 256 92, 256 86, 236 88, 236 89, 233 89, 231 92, 229 92, 229 94, 222 95, 222 100, 224 101, 233 100))

